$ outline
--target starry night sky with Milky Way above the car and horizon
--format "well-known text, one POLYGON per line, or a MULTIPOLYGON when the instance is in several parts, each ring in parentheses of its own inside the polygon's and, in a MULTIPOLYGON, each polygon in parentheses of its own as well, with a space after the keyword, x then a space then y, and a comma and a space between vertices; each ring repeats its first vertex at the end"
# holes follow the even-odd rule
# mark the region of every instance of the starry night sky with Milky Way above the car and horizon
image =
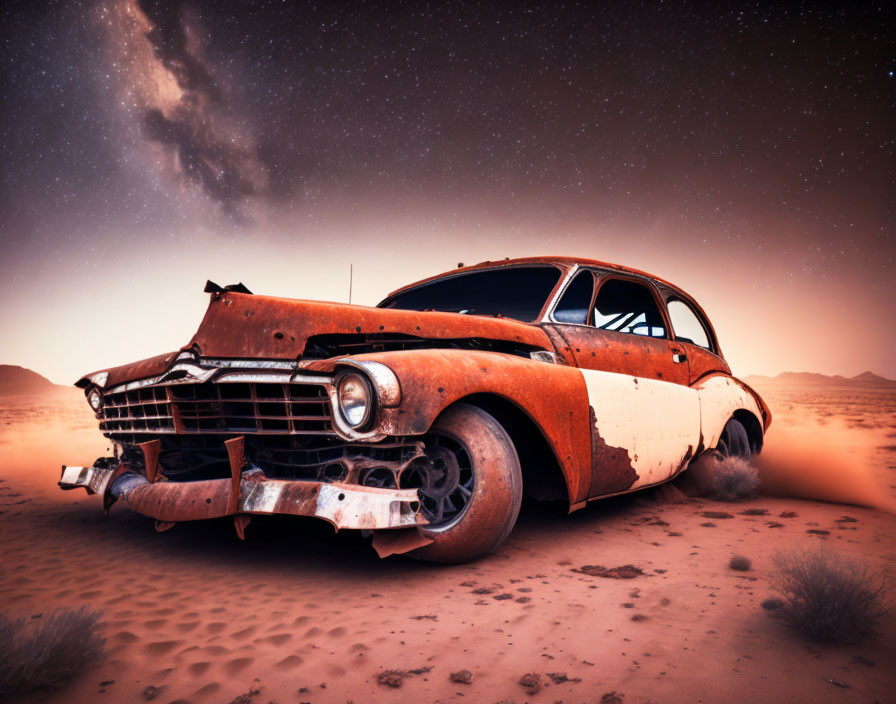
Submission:
POLYGON ((0 362, 176 349, 207 278, 373 305, 564 254, 693 294, 735 373, 896 377, 892 2, 14 1, 0 362))

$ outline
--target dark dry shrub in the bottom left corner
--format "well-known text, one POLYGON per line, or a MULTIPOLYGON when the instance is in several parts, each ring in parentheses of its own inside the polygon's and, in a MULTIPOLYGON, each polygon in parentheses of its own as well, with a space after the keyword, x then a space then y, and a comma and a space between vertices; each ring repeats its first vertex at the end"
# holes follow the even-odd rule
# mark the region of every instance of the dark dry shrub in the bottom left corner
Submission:
POLYGON ((0 614, 0 700, 61 687, 103 659, 100 613, 56 609, 39 623, 0 614))

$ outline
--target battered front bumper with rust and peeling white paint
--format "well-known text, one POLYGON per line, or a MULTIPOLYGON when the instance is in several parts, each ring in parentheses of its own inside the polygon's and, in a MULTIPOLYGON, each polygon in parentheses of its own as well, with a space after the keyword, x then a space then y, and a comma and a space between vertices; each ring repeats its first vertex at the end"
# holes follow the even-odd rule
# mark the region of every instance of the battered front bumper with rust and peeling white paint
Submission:
POLYGON ((236 479, 150 482, 125 465, 63 467, 62 489, 83 487, 111 506, 121 500, 161 523, 240 514, 313 516, 340 528, 378 530, 427 525, 416 489, 268 479, 258 469, 236 479))

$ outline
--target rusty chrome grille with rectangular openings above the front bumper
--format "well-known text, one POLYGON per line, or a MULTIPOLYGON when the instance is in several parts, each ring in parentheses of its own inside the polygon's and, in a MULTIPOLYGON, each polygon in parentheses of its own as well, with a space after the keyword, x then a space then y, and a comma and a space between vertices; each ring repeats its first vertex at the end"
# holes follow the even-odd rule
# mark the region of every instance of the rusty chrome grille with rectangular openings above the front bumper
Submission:
POLYGON ((227 382, 107 394, 100 429, 121 434, 332 434, 322 384, 227 382))

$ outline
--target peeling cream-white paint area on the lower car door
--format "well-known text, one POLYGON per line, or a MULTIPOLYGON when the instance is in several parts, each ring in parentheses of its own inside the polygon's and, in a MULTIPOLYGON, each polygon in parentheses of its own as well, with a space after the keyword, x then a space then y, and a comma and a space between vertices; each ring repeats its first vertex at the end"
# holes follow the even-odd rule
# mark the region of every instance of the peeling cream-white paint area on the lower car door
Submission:
MULTIPOLYGON (((681 384, 582 369, 597 429, 608 445, 628 450, 637 489, 668 479, 700 441, 697 392, 681 384)), ((600 471, 595 468, 595 471, 600 471)))

